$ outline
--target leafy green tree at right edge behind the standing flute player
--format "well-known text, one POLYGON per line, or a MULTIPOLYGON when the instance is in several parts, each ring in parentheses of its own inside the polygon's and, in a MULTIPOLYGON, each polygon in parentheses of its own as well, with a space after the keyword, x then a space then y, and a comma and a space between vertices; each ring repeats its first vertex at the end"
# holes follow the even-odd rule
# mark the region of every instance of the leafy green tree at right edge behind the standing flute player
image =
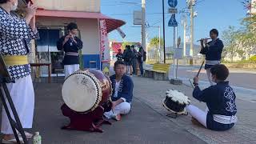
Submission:
MULTIPOLYGON (((243 2, 246 9, 250 8, 250 2, 243 2)), ((256 3, 251 4, 256 8, 256 3)), ((249 57, 255 53, 256 47, 256 14, 248 14, 246 18, 242 19, 242 27, 240 30, 235 30, 234 26, 230 26, 228 30, 223 32, 223 39, 225 43, 225 49, 223 50, 223 56, 227 54, 233 57, 238 54, 241 58, 245 55, 249 57)))

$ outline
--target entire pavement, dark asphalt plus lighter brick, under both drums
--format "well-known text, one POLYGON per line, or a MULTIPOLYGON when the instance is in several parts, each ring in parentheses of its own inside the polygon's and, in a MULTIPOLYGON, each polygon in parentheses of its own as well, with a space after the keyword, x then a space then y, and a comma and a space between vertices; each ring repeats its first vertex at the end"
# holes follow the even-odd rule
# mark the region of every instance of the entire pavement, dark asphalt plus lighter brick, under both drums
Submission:
MULTIPOLYGON (((134 102, 129 117, 112 126, 102 126, 104 133, 61 130, 68 122, 62 116, 60 83, 34 83, 36 102, 33 132, 42 134, 45 144, 83 143, 256 143, 256 106, 237 99, 238 123, 231 130, 217 132, 194 126, 190 116, 168 118, 162 106, 166 90, 180 90, 193 105, 205 109, 203 102, 192 98, 190 86, 174 86, 167 81, 134 76, 134 102)), ((238 94, 238 98, 240 95, 238 94)), ((30 142, 32 143, 32 142, 30 142)))

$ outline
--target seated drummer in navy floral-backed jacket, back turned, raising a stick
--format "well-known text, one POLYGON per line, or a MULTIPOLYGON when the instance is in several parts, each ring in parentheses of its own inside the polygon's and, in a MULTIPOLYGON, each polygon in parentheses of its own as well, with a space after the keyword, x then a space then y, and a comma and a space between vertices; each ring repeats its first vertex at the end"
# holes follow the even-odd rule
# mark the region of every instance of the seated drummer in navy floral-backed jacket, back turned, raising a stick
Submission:
POLYGON ((230 87, 226 78, 229 70, 222 64, 211 67, 210 73, 213 82, 217 85, 200 90, 198 77, 194 78, 193 97, 201 102, 206 102, 206 111, 197 106, 189 105, 186 110, 194 120, 200 122, 210 130, 229 130, 237 122, 237 106, 235 104, 234 90, 230 87))

